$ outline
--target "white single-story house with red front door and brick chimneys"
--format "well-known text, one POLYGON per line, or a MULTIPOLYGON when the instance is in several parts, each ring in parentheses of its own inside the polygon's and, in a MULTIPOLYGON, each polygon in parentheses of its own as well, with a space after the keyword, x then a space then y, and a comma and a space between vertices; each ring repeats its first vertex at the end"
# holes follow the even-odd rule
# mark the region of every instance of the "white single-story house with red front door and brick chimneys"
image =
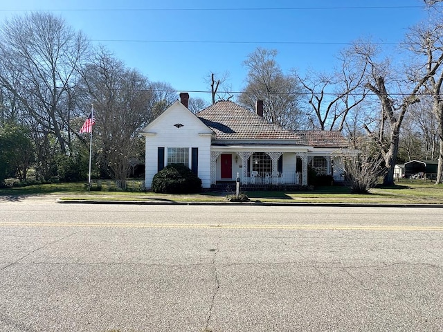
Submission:
POLYGON ((180 94, 161 116, 141 131, 145 136, 145 187, 165 165, 183 163, 210 188, 223 181, 242 185, 307 185, 308 165, 317 174, 343 180, 338 152, 347 143, 338 131, 289 131, 256 112, 219 101, 193 114, 188 93, 180 94))

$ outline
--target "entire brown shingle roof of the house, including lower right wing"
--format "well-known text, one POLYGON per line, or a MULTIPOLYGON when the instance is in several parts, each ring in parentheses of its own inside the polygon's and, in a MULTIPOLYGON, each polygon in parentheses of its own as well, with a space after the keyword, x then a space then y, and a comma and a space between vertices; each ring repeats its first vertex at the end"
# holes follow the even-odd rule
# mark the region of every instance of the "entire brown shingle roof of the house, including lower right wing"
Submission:
POLYGON ((216 102, 197 117, 215 132, 217 140, 290 140, 311 147, 347 147, 340 131, 282 129, 231 101, 216 102))

